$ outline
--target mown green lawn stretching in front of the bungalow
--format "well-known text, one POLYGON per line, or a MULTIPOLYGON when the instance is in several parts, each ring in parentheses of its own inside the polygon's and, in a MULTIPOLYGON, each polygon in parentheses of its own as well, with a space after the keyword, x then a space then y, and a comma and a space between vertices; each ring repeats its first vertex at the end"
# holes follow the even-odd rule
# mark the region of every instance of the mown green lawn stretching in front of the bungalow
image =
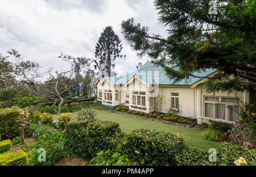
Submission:
MULTIPOLYGON (((139 119, 137 117, 132 117, 129 115, 121 115, 118 113, 106 112, 95 109, 97 115, 96 117, 100 120, 117 121, 123 132, 130 132, 137 127, 146 128, 151 130, 164 130, 171 133, 179 133, 191 147, 197 147, 199 149, 209 150, 210 148, 215 148, 218 150, 218 142, 204 140, 201 136, 202 131, 187 127, 180 127, 176 125, 158 123, 156 121, 139 119)), ((77 112, 72 113, 75 118, 77 112)), ((56 119, 56 115, 54 119, 56 119)))

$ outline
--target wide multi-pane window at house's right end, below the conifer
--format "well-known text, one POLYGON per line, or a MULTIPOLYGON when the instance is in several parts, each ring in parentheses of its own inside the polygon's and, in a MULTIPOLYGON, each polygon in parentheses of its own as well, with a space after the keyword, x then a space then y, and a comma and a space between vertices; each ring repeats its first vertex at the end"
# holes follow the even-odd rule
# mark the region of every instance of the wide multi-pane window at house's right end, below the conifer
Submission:
POLYGON ((204 116, 220 120, 236 121, 238 117, 236 103, 238 102, 235 98, 205 96, 204 116))

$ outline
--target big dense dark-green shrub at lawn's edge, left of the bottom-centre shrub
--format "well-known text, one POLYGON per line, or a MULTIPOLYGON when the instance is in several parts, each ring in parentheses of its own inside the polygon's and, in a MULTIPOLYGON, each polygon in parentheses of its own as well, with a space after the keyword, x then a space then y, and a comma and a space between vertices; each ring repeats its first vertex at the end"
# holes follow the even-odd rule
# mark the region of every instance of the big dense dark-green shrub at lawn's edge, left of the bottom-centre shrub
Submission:
POLYGON ((101 150, 113 149, 113 137, 121 132, 118 123, 110 121, 80 121, 68 123, 65 133, 75 153, 93 157, 101 150))

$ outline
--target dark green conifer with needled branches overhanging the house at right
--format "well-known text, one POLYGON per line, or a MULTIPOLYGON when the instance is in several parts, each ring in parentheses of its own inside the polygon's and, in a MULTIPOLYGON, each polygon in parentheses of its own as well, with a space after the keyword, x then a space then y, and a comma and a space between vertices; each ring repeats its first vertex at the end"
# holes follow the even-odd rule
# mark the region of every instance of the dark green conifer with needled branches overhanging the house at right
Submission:
POLYGON ((138 56, 150 56, 174 81, 202 78, 193 73, 217 69, 220 74, 206 82, 208 92, 255 89, 255 1, 155 0, 154 4, 160 23, 168 27, 167 39, 150 35, 150 29, 133 18, 122 22, 122 33, 138 56), (179 69, 165 66, 167 58, 179 69))

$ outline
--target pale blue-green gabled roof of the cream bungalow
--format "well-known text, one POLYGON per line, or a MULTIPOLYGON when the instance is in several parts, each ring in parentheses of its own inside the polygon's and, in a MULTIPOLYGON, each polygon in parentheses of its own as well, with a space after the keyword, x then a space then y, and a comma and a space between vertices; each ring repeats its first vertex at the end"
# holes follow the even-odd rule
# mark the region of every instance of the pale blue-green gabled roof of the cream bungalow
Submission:
MULTIPOLYGON (((213 73, 216 71, 216 69, 205 69, 204 72, 195 72, 192 73, 193 75, 197 75, 199 77, 206 77, 207 75, 213 73)), ((200 80, 200 78, 197 77, 191 77, 186 81, 185 79, 183 81, 179 81, 174 83, 174 81, 171 81, 167 75, 166 71, 164 71, 164 68, 161 66, 154 66, 152 62, 147 61, 144 65, 141 66, 138 70, 134 71, 133 73, 129 73, 126 75, 122 75, 121 77, 105 77, 112 85, 119 85, 119 84, 125 84, 128 82, 131 78, 134 77, 134 75, 137 75, 137 77, 141 78, 143 81, 145 81, 148 85, 170 85, 170 86, 191 86, 192 83, 195 83, 200 80)), ((103 78, 99 78, 100 80, 103 78)))

